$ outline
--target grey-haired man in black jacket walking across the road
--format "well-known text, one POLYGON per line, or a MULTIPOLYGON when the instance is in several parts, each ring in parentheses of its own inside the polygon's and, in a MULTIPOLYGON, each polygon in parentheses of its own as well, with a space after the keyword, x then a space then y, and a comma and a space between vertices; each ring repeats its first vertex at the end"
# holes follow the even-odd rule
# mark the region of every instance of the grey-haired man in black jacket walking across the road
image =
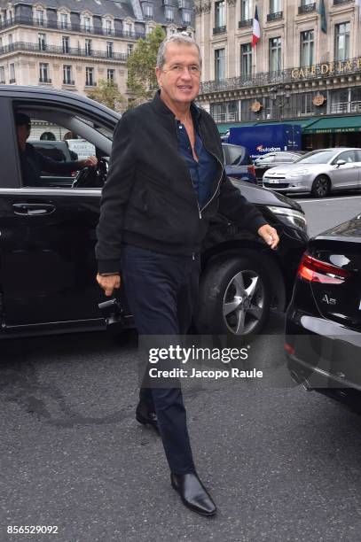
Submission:
MULTIPOLYGON (((218 209, 263 237, 277 232, 224 174, 214 120, 194 105, 200 51, 187 35, 161 43, 153 101, 123 114, 114 143, 98 224, 99 285, 106 296, 122 281, 139 335, 185 334, 198 295, 200 245, 218 209)), ((176 387, 140 391, 137 421, 159 429, 171 484, 201 515, 216 506, 192 460, 182 393, 176 387)), ((169 384, 170 385, 170 384, 169 384)))

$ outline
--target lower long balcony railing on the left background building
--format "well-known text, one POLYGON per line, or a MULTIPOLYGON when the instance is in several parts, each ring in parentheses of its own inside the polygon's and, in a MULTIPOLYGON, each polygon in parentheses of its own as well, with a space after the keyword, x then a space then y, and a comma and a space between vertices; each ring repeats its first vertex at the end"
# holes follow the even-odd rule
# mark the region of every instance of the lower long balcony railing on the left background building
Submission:
POLYGON ((0 47, 0 57, 2 55, 5 55, 7 53, 11 53, 17 50, 28 50, 31 52, 38 52, 41 55, 44 54, 53 54, 53 55, 61 55, 64 54, 72 55, 75 57, 88 57, 88 58, 108 58, 110 60, 116 59, 116 60, 122 60, 126 61, 128 58, 127 53, 113 53, 112 57, 109 57, 106 50, 87 50, 87 49, 81 49, 78 47, 69 47, 67 48, 67 53, 65 53, 65 50, 61 45, 45 45, 45 47, 39 48, 39 45, 37 43, 25 43, 25 42, 15 42, 12 43, 12 45, 5 45, 4 47, 0 47))

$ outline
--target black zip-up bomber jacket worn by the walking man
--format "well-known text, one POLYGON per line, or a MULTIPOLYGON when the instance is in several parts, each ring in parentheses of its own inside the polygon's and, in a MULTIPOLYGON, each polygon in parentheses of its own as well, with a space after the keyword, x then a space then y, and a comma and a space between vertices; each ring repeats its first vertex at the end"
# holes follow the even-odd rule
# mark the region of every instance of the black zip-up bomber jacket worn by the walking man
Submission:
MULTIPOLYGON (((192 105, 196 107, 196 105, 192 105)), ((200 137, 218 162, 211 195, 201 208, 178 151, 176 117, 161 100, 125 112, 115 131, 97 228, 99 273, 120 271, 122 243, 164 254, 200 252, 219 211, 256 233, 266 224, 224 173, 222 143, 212 117, 197 108, 200 137)))

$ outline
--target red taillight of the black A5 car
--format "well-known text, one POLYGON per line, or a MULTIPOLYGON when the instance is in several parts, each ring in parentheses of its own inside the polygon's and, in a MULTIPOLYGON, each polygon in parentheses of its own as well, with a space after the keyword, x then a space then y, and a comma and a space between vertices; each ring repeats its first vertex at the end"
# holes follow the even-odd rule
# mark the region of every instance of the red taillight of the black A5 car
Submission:
POLYGON ((349 271, 303 254, 297 275, 310 283, 341 284, 350 276, 349 271))

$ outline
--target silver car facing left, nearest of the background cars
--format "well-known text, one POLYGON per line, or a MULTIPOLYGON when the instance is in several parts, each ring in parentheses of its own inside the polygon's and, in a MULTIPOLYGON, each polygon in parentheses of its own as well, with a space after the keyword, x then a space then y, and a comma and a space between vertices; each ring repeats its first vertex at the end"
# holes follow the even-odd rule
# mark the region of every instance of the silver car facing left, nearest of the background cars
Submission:
POLYGON ((263 175, 263 187, 279 192, 309 192, 325 197, 336 190, 361 186, 361 149, 341 147, 308 152, 288 166, 272 167, 263 175))

